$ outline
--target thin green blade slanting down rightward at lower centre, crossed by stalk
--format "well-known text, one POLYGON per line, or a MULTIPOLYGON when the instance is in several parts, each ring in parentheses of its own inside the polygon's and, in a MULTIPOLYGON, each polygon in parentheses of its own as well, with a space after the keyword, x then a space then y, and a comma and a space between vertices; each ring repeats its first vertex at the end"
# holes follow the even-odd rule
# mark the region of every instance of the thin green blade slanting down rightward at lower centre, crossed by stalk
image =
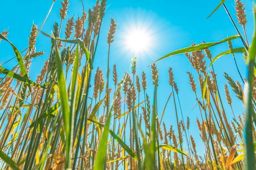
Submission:
MULTIPOLYGON (((96 121, 96 120, 89 119, 89 118, 88 118, 88 120, 91 121, 91 122, 94 122, 94 123, 98 124, 99 126, 102 126, 102 127, 105 126, 104 124, 102 124, 102 123, 100 123, 100 122, 98 122, 98 121, 96 121)), ((126 144, 124 143, 124 141, 123 141, 120 137, 118 137, 112 130, 109 130, 109 133, 110 133, 110 135, 118 142, 118 144, 121 145, 121 147, 122 147, 127 153, 129 153, 130 156, 132 156, 136 161, 138 161, 138 156, 136 155, 136 153, 134 153, 133 150, 131 150, 131 149, 129 148, 129 146, 126 145, 126 144)))

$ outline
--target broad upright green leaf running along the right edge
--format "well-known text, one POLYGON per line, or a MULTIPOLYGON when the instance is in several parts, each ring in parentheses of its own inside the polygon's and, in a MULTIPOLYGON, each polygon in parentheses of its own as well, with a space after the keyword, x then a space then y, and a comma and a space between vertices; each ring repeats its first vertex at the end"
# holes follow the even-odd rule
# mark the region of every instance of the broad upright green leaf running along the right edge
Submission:
POLYGON ((247 94, 245 98, 245 168, 246 170, 255 169, 255 155, 254 155, 254 142, 253 142, 253 126, 252 126, 252 90, 254 81, 254 65, 256 58, 256 6, 254 4, 254 18, 255 30, 251 47, 249 49, 249 64, 248 64, 248 85, 247 94))

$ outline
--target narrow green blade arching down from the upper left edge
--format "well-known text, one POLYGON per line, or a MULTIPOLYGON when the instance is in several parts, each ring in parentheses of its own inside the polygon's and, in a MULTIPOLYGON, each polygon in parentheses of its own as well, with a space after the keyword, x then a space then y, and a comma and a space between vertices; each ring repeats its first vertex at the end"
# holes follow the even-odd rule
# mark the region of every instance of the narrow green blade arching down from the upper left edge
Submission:
POLYGON ((20 66, 20 72, 25 78, 28 78, 27 71, 23 62, 23 58, 20 54, 20 51, 5 36, 3 36, 3 34, 0 34, 0 38, 7 41, 12 46, 12 49, 17 57, 17 60, 20 66))

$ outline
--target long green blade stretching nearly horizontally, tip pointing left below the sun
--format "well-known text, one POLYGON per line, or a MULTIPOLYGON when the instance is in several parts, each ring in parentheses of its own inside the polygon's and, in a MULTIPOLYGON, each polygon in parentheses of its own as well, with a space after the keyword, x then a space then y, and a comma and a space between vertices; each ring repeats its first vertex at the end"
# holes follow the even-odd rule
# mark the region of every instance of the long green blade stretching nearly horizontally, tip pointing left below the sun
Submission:
POLYGON ((173 55, 177 55, 177 54, 182 54, 182 53, 186 53, 186 52, 193 52, 193 51, 199 51, 199 50, 204 50, 204 49, 208 49, 212 46, 215 46, 217 44, 221 44, 223 42, 226 42, 226 41, 229 41, 229 40, 232 40, 232 39, 236 39, 240 37, 240 35, 233 35, 233 36, 230 36, 230 37, 227 37, 221 41, 218 41, 218 42, 211 42, 211 43, 203 43, 203 44, 197 44, 195 46, 191 46, 191 47, 186 47, 186 48, 183 48, 183 49, 179 49, 179 50, 176 50, 176 51, 173 51, 173 52, 170 52, 164 56, 162 56, 161 58, 159 58, 158 60, 154 61, 153 63, 156 63, 162 59, 165 59, 167 57, 170 57, 170 56, 173 56, 173 55))

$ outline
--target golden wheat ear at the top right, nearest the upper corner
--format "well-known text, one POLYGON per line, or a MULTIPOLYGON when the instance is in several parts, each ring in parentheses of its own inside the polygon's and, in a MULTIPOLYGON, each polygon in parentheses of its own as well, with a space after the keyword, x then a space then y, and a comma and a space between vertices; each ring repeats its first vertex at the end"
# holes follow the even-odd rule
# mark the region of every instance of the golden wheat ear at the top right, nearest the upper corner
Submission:
POLYGON ((245 24, 247 23, 247 19, 246 19, 244 3, 242 3, 240 0, 236 0, 235 9, 236 9, 236 17, 238 19, 238 24, 245 27, 245 24))

